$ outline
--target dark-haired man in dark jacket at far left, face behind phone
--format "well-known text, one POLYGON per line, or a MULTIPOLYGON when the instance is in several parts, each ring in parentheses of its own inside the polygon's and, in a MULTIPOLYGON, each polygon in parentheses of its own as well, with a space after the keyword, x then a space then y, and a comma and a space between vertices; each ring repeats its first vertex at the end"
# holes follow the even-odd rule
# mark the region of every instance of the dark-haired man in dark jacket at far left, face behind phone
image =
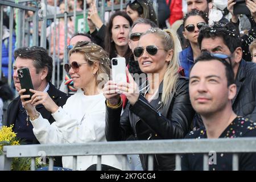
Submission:
MULTIPOLYGON (((19 48, 15 50, 14 58, 13 79, 15 89, 18 92, 21 88, 17 71, 20 68, 28 68, 35 90, 48 92, 49 96, 58 106, 63 106, 66 103, 68 95, 55 88, 50 82, 53 65, 52 57, 48 56, 46 49, 36 46, 19 48)), ((43 118, 48 119, 50 123, 55 121, 51 113, 47 111, 43 105, 36 106, 36 110, 42 114, 43 118)), ((13 131, 17 133, 17 137, 24 140, 26 144, 39 143, 32 131, 33 127, 29 121, 26 110, 22 106, 20 96, 16 97, 8 106, 6 124, 7 126, 14 125, 13 131)), ((60 166, 59 163, 55 163, 55 166, 56 165, 60 166)))

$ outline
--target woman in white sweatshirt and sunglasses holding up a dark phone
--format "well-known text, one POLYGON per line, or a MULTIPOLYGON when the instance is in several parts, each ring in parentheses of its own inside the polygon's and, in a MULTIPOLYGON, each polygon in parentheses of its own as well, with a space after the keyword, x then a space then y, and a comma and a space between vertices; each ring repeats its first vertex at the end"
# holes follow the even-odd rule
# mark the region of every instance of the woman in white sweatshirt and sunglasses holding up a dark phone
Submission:
MULTIPOLYGON (((110 74, 108 54, 97 44, 78 42, 69 51, 69 64, 65 71, 71 75, 77 92, 68 98, 63 107, 52 101, 47 93, 31 90, 34 95, 20 99, 34 127, 33 132, 40 143, 87 143, 102 142, 105 138, 105 97, 102 86, 110 74), (55 122, 51 125, 35 106, 42 104, 52 113, 55 122)), ((77 156, 75 170, 96 169, 97 156, 77 156)), ((73 167, 72 157, 63 157, 63 167, 73 167)), ((120 156, 102 156, 102 170, 123 169, 120 156)))

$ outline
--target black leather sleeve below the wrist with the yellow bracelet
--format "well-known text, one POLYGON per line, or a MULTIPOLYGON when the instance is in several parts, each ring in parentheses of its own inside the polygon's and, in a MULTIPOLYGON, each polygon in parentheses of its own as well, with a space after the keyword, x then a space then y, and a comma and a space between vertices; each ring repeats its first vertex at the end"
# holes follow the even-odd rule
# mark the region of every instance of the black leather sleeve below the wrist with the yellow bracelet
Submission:
POLYGON ((122 107, 111 109, 106 106, 105 135, 108 141, 126 140, 132 133, 129 121, 129 105, 123 111, 122 107))

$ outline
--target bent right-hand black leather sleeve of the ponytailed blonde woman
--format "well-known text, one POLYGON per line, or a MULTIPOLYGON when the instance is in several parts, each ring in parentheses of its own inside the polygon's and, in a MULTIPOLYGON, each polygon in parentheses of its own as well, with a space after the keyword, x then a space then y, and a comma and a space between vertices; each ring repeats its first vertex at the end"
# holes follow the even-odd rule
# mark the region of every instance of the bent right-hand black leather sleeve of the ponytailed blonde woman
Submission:
POLYGON ((130 107, 162 139, 184 138, 188 133, 195 111, 188 94, 188 81, 179 79, 167 118, 148 104, 146 98, 139 96, 138 101, 130 107))

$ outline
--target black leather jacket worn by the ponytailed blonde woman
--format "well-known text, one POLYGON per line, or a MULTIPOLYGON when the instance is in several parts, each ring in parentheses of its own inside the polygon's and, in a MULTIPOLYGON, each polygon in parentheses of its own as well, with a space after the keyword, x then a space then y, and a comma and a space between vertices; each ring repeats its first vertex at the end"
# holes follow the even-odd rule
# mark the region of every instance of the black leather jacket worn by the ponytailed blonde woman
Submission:
MULTIPOLYGON (((126 140, 131 134, 137 140, 184 138, 191 129, 195 111, 188 94, 188 81, 180 77, 171 102, 162 107, 163 82, 159 86, 159 97, 150 104, 142 95, 131 106, 128 104, 122 116, 122 108, 106 107, 105 134, 108 141, 126 140), (163 115, 162 115, 163 113, 163 115)), ((147 155, 141 155, 142 167, 147 169, 147 155)), ((175 155, 155 155, 154 170, 175 169, 175 155)))

